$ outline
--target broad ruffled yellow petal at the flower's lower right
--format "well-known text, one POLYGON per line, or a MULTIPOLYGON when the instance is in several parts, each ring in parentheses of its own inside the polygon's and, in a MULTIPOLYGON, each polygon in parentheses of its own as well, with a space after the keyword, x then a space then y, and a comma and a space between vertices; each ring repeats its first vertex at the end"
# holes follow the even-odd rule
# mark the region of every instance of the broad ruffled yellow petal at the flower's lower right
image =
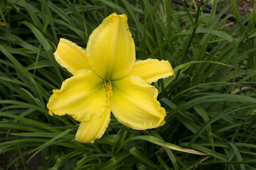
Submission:
POLYGON ((164 125, 165 109, 157 101, 158 91, 138 76, 112 81, 110 108, 122 124, 138 130, 164 125))

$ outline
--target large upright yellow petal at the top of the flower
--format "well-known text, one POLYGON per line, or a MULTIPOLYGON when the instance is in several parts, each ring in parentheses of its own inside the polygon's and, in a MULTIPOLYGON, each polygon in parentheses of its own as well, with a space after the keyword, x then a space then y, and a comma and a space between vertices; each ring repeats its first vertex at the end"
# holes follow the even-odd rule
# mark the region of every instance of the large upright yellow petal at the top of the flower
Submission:
POLYGON ((127 75, 135 63, 135 44, 127 16, 112 13, 94 30, 86 47, 92 70, 102 79, 127 75))

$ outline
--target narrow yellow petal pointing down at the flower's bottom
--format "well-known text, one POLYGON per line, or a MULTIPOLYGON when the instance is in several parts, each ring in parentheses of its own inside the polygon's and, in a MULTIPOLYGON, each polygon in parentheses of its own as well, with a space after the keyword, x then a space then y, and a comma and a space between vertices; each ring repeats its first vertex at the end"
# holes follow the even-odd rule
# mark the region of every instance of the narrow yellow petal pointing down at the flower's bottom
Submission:
POLYGON ((110 108, 106 107, 106 110, 99 117, 90 121, 81 121, 76 132, 76 141, 93 144, 95 139, 101 138, 108 128, 110 112, 110 108))

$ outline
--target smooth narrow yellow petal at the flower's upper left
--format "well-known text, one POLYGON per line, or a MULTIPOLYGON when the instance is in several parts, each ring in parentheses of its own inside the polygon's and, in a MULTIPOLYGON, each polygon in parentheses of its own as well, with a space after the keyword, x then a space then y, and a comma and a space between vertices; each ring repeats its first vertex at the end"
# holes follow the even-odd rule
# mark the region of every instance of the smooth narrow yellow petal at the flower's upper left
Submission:
POLYGON ((67 68, 67 71, 73 75, 81 69, 92 70, 87 61, 86 51, 70 40, 60 39, 54 57, 61 66, 67 68))

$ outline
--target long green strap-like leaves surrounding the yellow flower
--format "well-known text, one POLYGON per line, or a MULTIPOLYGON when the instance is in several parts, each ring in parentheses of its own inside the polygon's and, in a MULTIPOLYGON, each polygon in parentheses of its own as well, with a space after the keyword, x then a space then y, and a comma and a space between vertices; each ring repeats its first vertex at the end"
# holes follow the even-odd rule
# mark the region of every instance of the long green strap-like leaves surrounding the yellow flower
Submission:
POLYGON ((255 170, 256 5, 240 20, 235 3, 215 15, 200 4, 171 9, 168 0, 1 1, 0 170, 255 170), (220 16, 231 8, 238 23, 225 26, 220 16), (78 122, 46 108, 52 89, 72 76, 53 53, 59 38, 86 48, 113 12, 128 15, 137 59, 174 68, 175 77, 154 84, 166 124, 132 130, 111 117, 101 139, 81 144, 78 122))

